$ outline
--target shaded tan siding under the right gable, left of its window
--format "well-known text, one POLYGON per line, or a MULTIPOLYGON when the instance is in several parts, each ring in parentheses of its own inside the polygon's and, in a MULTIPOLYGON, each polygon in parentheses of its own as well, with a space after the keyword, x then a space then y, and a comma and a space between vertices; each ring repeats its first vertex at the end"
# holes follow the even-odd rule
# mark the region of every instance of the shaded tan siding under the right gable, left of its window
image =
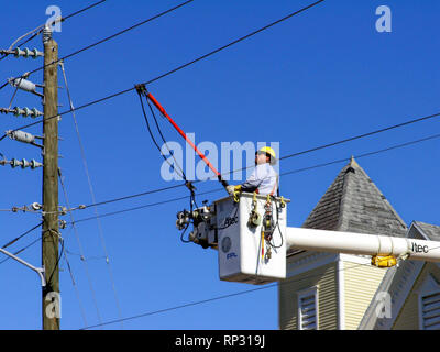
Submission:
POLYGON ((416 284, 413 286, 399 315, 393 326, 393 330, 418 330, 419 329, 419 301, 417 290, 425 282, 428 274, 431 274, 440 282, 440 270, 436 264, 428 263, 424 266, 416 284))

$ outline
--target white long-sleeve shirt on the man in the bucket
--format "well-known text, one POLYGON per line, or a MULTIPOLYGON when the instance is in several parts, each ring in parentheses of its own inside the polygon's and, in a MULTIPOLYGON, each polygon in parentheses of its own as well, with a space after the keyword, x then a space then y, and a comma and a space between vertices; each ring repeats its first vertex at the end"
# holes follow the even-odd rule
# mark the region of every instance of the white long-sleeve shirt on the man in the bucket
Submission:
POLYGON ((253 193, 258 190, 260 195, 276 195, 278 189, 278 175, 271 164, 258 164, 251 176, 241 185, 242 191, 253 193))

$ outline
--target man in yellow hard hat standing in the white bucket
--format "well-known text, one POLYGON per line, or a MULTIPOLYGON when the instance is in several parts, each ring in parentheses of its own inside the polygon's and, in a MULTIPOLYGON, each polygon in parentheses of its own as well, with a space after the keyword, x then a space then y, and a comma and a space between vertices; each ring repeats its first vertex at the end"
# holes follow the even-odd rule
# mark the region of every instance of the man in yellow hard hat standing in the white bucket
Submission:
POLYGON ((278 175, 272 165, 276 164, 275 151, 270 146, 263 146, 255 153, 255 169, 241 185, 228 186, 228 193, 233 196, 237 193, 256 191, 260 195, 275 195, 278 191, 278 175))

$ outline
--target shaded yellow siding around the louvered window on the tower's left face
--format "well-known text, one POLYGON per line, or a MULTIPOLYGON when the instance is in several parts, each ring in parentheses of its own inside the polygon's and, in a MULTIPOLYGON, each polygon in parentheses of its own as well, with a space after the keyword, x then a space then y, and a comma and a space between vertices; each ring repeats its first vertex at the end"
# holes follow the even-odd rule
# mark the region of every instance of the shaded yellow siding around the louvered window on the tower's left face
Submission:
POLYGON ((318 329, 338 328, 337 263, 330 263, 279 283, 279 328, 297 329, 297 293, 318 286, 318 329))

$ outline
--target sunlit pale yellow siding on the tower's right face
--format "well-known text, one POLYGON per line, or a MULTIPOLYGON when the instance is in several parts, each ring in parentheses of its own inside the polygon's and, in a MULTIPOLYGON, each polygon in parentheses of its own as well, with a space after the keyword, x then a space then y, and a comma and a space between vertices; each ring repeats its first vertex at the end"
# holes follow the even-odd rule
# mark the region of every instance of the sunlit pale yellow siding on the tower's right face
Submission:
POLYGON ((381 284, 386 270, 343 262, 345 330, 355 330, 381 284))

